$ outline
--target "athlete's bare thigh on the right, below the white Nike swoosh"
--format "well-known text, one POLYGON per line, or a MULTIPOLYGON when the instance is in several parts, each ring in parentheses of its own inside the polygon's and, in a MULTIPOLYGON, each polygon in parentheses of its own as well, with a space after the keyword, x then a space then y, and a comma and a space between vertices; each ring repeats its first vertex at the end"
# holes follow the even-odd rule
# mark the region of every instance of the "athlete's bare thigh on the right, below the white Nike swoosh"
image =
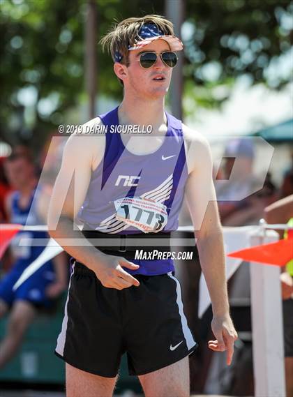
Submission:
POLYGON ((188 357, 146 375, 139 375, 146 397, 189 397, 188 357))

